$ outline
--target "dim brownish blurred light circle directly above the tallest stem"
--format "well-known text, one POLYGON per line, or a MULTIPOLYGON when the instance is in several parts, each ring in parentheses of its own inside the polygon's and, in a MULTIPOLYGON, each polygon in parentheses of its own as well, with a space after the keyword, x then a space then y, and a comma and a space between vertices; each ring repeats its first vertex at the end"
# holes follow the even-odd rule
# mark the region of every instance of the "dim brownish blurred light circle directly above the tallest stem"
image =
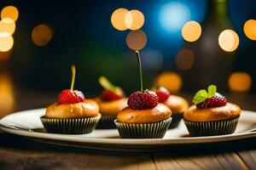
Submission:
POLYGON ((133 50, 140 50, 147 44, 147 35, 142 30, 130 31, 126 36, 126 44, 133 50))

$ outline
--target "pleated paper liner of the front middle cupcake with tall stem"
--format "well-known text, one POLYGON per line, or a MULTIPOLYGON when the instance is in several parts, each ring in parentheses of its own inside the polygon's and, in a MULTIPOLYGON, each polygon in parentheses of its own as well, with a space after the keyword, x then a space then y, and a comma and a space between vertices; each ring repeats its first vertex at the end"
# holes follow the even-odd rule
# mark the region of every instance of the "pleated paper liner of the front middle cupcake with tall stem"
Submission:
POLYGON ((165 136, 172 117, 153 123, 122 123, 114 120, 119 135, 123 139, 161 139, 165 136))

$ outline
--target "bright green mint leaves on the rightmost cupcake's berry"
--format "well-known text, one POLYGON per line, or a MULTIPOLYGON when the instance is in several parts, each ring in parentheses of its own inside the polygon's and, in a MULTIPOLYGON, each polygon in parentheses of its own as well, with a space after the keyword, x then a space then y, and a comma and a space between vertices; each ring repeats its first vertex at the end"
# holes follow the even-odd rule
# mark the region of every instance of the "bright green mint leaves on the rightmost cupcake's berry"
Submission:
POLYGON ((208 86, 208 92, 205 89, 199 90, 195 94, 192 101, 195 105, 197 105, 206 99, 212 98, 216 94, 216 91, 217 91, 217 87, 215 85, 210 85, 208 86))

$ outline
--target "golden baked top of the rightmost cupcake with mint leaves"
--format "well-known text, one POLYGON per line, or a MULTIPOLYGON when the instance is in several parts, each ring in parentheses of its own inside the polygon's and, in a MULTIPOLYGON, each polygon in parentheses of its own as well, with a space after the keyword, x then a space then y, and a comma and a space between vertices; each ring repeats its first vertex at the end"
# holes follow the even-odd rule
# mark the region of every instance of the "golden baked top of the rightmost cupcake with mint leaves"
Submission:
POLYGON ((231 103, 208 109, 198 109, 195 105, 192 105, 188 111, 185 111, 183 118, 190 122, 210 122, 234 118, 240 116, 240 113, 240 107, 231 103))

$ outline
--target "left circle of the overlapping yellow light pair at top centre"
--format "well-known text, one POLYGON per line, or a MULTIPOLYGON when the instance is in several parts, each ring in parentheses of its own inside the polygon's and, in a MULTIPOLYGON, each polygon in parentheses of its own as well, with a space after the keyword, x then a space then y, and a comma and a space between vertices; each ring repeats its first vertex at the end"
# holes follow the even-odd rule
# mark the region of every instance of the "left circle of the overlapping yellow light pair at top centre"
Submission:
POLYGON ((111 15, 111 24, 115 29, 119 31, 127 30, 125 18, 128 12, 129 10, 126 8, 118 8, 113 11, 113 14, 111 15))

